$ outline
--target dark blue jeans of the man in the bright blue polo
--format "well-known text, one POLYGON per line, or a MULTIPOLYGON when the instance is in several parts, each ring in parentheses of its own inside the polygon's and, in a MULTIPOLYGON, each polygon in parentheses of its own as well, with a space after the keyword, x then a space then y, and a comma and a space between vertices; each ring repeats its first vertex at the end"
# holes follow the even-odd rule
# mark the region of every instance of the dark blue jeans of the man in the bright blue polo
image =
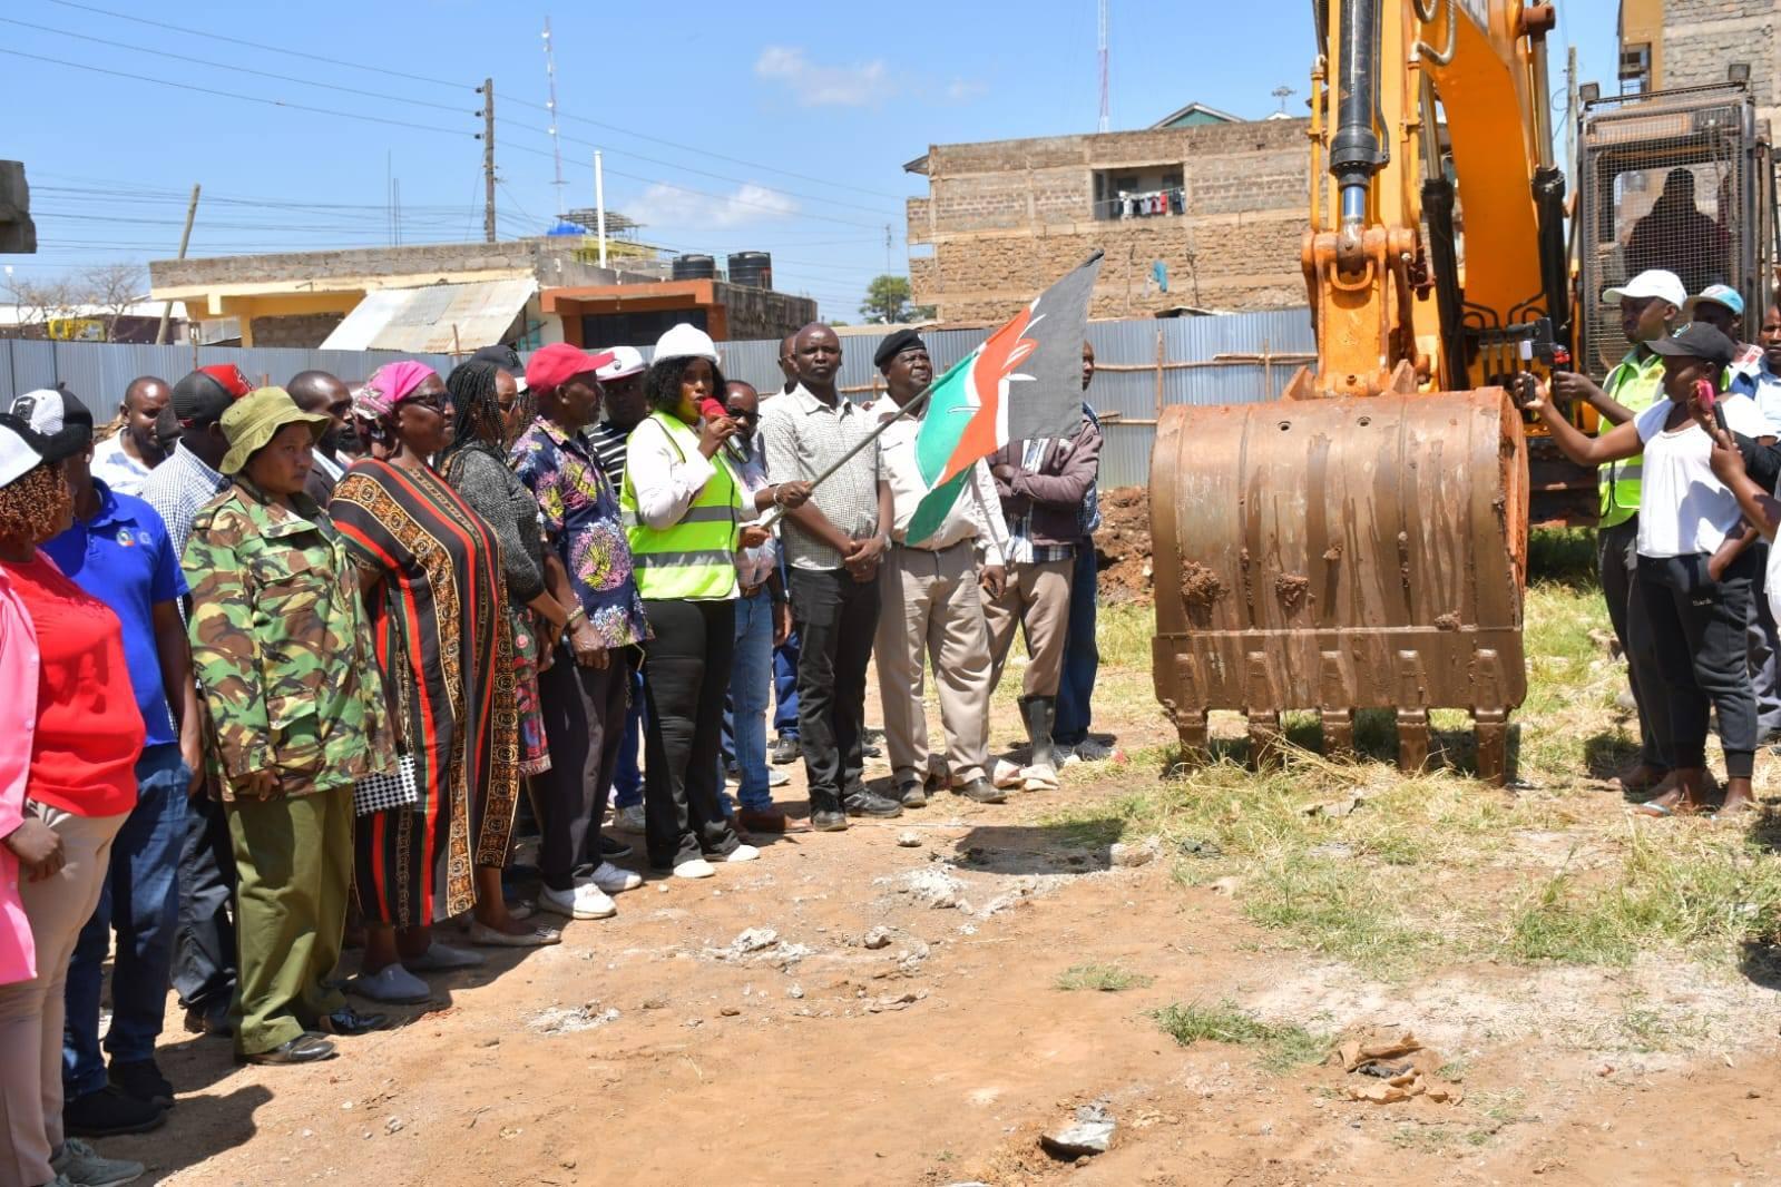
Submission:
POLYGON ((105 1050, 114 1064, 155 1057, 167 1011, 173 938, 180 924, 180 845, 191 771, 175 744, 151 746, 135 763, 137 801, 112 842, 100 904, 80 929, 68 963, 68 1018, 62 1027, 62 1091, 68 1100, 105 1087, 100 1055, 100 982, 110 933, 112 1021, 105 1050))

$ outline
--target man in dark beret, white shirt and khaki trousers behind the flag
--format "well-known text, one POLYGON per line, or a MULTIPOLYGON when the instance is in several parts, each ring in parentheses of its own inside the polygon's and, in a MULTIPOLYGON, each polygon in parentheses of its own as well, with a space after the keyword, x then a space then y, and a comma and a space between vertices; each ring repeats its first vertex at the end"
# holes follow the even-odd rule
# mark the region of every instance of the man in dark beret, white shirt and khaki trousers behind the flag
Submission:
MULTIPOLYGON (((933 381, 928 347, 914 329, 887 336, 873 354, 889 395, 866 406, 871 420, 892 418, 933 381)), ((946 771, 960 795, 999 804, 1006 794, 988 779, 990 639, 978 584, 999 596, 1008 529, 988 468, 980 461, 940 529, 908 545, 908 523, 928 493, 915 464, 921 413, 898 420, 878 440, 880 473, 896 509, 890 552, 878 569, 878 692, 885 712, 894 795, 905 806, 928 803, 940 772, 928 762, 923 676, 933 660, 946 731, 946 771), (978 571, 978 546, 983 569, 978 571)))

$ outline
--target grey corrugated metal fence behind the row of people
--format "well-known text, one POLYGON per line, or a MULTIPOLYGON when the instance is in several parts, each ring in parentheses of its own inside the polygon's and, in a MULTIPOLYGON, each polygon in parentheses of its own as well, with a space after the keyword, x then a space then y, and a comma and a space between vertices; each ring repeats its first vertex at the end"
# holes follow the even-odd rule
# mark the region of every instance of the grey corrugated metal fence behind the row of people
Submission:
MULTIPOLYGON (((940 329, 923 335, 939 368, 951 367, 988 336, 985 329, 940 329)), ((882 335, 841 340, 841 388, 853 399, 871 399, 882 384, 873 351, 882 335), (876 383, 874 383, 876 381, 876 383)), ((1227 313, 1218 317, 1133 319, 1092 322, 1095 383, 1088 402, 1110 413, 1102 486, 1143 484, 1151 479, 1151 441, 1158 413, 1167 404, 1250 404, 1281 395, 1293 372, 1316 351, 1305 310, 1227 313)), ((778 342, 725 342, 723 370, 762 392, 784 383, 778 342)), ((643 347, 648 356, 648 347, 643 347)), ((445 374, 445 354, 401 356, 360 351, 239 349, 191 345, 110 345, 91 342, 0 340, 0 399, 66 383, 68 390, 109 416, 125 384, 137 375, 178 379, 194 367, 235 363, 256 381, 285 383, 306 368, 333 372, 356 383, 395 358, 419 358, 445 374)))

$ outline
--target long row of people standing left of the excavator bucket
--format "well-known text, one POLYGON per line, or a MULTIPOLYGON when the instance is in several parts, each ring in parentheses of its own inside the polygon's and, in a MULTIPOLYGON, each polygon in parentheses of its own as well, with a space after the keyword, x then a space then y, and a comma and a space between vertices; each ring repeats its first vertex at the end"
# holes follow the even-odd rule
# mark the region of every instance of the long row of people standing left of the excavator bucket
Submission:
POLYGON ((142 1173, 84 1139, 175 1105, 169 989, 240 1062, 317 1062, 477 947, 614 915, 643 883, 623 835, 703 879, 777 833, 1106 758, 1094 411, 978 463, 910 545, 899 413, 933 359, 889 335, 885 395, 855 404, 841 356, 805 326, 762 393, 682 324, 648 365, 497 345, 356 392, 216 365, 134 381, 109 432, 62 388, 0 411, 0 1187, 142 1173), (988 749, 1017 628, 1024 763, 988 749), (771 794, 798 758, 807 824, 771 794))

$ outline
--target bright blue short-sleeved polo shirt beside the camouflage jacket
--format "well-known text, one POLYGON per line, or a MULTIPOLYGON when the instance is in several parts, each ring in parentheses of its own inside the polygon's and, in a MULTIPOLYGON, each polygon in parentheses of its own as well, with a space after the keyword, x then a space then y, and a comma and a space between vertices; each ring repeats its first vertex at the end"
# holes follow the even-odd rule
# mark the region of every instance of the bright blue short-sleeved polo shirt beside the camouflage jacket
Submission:
POLYGON ((123 623, 123 655, 130 666, 135 707, 148 726, 144 746, 178 742, 173 710, 160 682, 160 653, 155 650, 159 602, 185 596, 185 575, 173 552, 167 527, 135 495, 118 495, 103 480, 93 479, 100 511, 43 545, 43 552, 89 594, 103 602, 123 623))

